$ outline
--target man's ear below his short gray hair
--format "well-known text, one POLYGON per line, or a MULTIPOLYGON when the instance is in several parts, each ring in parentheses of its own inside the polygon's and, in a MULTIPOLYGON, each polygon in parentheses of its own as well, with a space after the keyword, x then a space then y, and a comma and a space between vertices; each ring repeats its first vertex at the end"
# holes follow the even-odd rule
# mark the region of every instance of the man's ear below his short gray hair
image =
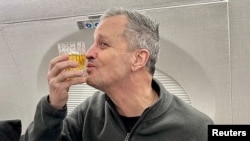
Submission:
POLYGON ((133 67, 132 70, 135 71, 146 66, 149 59, 149 51, 146 49, 138 49, 134 53, 133 67))

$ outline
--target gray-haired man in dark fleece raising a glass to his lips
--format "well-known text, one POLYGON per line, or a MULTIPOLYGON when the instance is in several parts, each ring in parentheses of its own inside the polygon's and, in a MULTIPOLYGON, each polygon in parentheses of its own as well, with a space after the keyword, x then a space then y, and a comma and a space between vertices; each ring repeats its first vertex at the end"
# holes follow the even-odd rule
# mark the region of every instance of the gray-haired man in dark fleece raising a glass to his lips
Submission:
POLYGON ((213 121, 153 79, 158 26, 133 10, 106 11, 86 54, 86 77, 80 71, 64 71, 77 66, 67 55, 51 60, 49 96, 38 103, 24 140, 207 140, 207 125, 213 121), (70 86, 85 82, 100 91, 66 116, 70 86))

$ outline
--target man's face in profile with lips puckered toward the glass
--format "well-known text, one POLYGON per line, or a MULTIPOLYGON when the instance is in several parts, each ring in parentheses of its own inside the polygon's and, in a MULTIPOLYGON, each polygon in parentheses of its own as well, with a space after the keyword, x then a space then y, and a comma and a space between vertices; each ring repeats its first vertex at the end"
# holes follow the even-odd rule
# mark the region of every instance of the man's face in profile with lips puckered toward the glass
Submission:
POLYGON ((131 73, 128 43, 123 37, 127 19, 113 16, 101 21, 94 32, 94 43, 87 51, 87 84, 108 89, 125 82, 131 73))

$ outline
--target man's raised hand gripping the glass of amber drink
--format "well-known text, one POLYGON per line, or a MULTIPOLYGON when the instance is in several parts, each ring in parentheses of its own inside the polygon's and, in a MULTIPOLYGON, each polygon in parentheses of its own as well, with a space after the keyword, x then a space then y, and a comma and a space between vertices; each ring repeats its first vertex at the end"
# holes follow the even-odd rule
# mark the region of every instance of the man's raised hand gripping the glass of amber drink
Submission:
POLYGON ((82 71, 66 71, 66 68, 77 67, 77 62, 70 61, 67 54, 55 57, 50 61, 48 70, 49 102, 57 108, 63 108, 68 101, 68 91, 71 85, 86 82, 82 71))

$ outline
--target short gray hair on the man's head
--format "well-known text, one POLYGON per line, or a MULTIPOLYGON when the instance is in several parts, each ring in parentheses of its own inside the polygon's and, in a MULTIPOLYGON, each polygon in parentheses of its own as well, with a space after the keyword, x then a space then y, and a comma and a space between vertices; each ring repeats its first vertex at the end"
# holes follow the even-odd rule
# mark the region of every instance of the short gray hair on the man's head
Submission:
POLYGON ((147 15, 124 8, 109 9, 101 16, 100 20, 117 15, 125 15, 128 18, 129 23, 124 31, 124 37, 128 41, 130 49, 144 48, 149 51, 147 69, 153 75, 160 46, 159 24, 147 15))

